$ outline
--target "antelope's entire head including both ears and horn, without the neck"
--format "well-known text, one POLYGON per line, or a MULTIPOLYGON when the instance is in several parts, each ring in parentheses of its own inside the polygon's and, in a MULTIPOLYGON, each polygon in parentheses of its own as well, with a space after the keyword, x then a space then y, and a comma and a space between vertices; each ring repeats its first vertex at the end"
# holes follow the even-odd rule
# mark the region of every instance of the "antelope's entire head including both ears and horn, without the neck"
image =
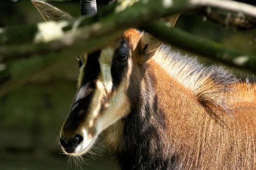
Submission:
MULTIPOLYGON (((43 16, 54 18, 49 15, 53 12, 44 14, 44 8, 37 7, 43 16)), ((50 8, 57 10, 48 5, 47 10, 50 8)), ((81 12, 95 13, 96 0, 82 1, 81 12)), ((59 18, 64 16, 68 15, 63 12, 59 18)), ((170 18, 172 25, 176 18, 170 18)), ((134 102, 130 87, 144 76, 141 70, 161 44, 148 33, 128 29, 101 50, 80 57, 78 90, 60 130, 60 144, 66 154, 86 153, 102 131, 129 114, 134 102)))

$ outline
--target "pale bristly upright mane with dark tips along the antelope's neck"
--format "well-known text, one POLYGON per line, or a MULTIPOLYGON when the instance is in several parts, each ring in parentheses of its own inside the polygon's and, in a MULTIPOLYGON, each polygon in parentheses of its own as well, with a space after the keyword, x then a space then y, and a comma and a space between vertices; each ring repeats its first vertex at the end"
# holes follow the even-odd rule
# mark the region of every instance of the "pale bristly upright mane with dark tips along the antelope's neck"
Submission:
POLYGON ((163 44, 153 57, 168 75, 189 89, 201 103, 211 104, 227 111, 225 92, 237 78, 218 66, 205 67, 196 58, 183 55, 163 44))

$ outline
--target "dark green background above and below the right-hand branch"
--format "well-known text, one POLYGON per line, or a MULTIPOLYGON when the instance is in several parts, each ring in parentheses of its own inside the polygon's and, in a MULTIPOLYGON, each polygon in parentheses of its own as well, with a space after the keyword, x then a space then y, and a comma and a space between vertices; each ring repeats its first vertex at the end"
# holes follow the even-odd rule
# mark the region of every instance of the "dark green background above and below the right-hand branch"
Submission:
MULTIPOLYGON (((199 37, 204 37, 223 44, 228 48, 234 48, 244 54, 256 55, 256 29, 242 31, 223 27, 205 19, 204 16, 187 12, 182 14, 176 23, 179 27, 187 32, 195 34, 199 37)), ((180 50, 183 53, 187 53, 180 50)), ((190 54, 195 56, 194 54, 190 54)), ((218 64, 231 70, 237 77, 244 78, 249 75, 250 79, 254 79, 254 75, 244 70, 229 68, 219 62, 212 62, 209 59, 198 56, 198 59, 206 65, 218 64)))

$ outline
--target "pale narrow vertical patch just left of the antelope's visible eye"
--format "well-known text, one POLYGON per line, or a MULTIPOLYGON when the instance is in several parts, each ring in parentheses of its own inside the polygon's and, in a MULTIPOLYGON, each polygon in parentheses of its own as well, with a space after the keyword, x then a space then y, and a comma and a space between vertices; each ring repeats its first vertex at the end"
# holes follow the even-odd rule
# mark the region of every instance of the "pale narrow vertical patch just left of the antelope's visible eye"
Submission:
POLYGON ((102 82, 108 93, 111 92, 111 89, 113 86, 112 76, 111 76, 111 66, 112 66, 113 55, 114 55, 113 48, 103 48, 99 58, 101 73, 102 73, 102 82))

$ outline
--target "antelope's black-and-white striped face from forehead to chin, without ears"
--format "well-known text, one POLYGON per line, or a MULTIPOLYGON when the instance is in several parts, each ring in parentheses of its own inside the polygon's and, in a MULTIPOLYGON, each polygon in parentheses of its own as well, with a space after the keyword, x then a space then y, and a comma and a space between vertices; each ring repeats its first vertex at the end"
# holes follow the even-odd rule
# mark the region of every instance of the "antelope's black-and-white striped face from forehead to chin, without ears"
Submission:
POLYGON ((122 37, 116 45, 80 58, 79 89, 60 131, 66 153, 83 154, 99 133, 129 112, 131 54, 129 42, 122 37))

